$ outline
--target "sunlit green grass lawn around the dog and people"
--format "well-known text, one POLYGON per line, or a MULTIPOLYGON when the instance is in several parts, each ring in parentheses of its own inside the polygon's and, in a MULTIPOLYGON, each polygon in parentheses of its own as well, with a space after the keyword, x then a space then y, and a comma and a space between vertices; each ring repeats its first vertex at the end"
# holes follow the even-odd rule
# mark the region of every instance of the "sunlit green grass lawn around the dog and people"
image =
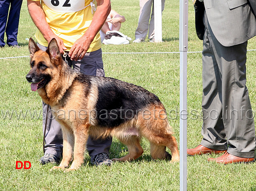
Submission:
MULTIPOLYGON (((138 23, 139 1, 112 0, 112 8, 124 15, 120 32, 134 40, 138 23)), ((188 51, 202 51, 194 27, 194 8, 189 2, 188 51)), ((162 15, 163 43, 131 43, 102 45, 110 52, 178 52, 179 2, 166 1, 162 15)), ((23 2, 18 42, 22 47, 0 49, 0 58, 28 56, 28 41, 36 27, 23 2)), ((255 49, 251 39, 248 49, 255 49)), ((253 110, 256 110, 256 52, 248 52, 247 86, 253 110)), ((156 94, 163 102, 170 124, 179 143, 179 54, 103 54, 106 76, 134 83, 156 94)), ((84 165, 77 171, 52 171, 52 164, 40 165, 42 151, 42 100, 32 92, 25 76, 29 58, 0 59, 0 190, 9 191, 178 191, 179 163, 153 160, 149 143, 142 140, 144 154, 132 162, 114 163, 111 167, 94 167, 85 155, 84 165), (8 113, 9 112, 9 113, 8 113), (34 115, 34 116, 33 116, 34 115), (16 161, 30 161, 30 169, 16 169, 16 161)), ((200 118, 202 99, 202 55, 188 53, 188 148, 202 139, 200 118), (197 115, 192 114, 196 113, 197 115)), ((127 154, 127 148, 113 140, 111 158, 127 154)), ((220 165, 207 162, 205 155, 188 157, 189 191, 255 191, 256 163, 220 165)))

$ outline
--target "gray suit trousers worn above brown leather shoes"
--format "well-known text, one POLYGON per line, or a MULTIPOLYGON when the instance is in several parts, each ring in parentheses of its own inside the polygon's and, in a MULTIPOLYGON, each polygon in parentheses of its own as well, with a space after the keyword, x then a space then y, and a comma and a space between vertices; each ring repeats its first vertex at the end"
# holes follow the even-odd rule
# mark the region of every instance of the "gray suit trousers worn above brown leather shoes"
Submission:
POLYGON ((207 148, 253 158, 254 116, 246 87, 247 41, 230 47, 221 45, 204 14, 202 53, 202 142, 207 148))

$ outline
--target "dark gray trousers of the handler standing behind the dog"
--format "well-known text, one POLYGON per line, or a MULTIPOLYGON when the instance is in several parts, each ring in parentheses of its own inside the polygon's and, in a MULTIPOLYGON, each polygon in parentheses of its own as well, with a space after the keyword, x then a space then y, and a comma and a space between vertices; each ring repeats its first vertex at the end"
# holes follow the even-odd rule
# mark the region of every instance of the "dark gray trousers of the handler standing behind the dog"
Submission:
MULTIPOLYGON (((38 46, 40 47, 40 49, 46 50, 46 47, 39 44, 38 46)), ((78 70, 86 75, 105 76, 103 70, 101 49, 94 52, 86 53, 84 58, 82 60, 78 60, 77 62, 71 61, 68 57, 67 59, 70 67, 72 66, 75 70, 78 70)), ((45 136, 45 153, 54 154, 57 157, 62 157, 62 131, 60 128, 60 124, 54 119, 54 116, 52 115, 50 110, 51 109, 49 108, 45 136)), ((47 104, 43 102, 43 131, 45 128, 46 111, 47 104)), ((89 136, 86 148, 89 156, 91 157, 91 161, 97 154, 103 152, 109 154, 111 144, 112 138, 108 138, 106 140, 93 140, 89 136)))

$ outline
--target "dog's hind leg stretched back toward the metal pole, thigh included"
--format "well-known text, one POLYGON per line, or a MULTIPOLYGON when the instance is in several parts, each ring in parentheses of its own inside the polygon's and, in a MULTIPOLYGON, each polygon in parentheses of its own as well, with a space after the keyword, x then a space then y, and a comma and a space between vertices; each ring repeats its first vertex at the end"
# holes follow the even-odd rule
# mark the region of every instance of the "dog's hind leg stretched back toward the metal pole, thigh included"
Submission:
POLYGON ((141 136, 150 142, 150 154, 154 159, 170 159, 166 152, 168 147, 172 152, 172 161, 179 161, 178 144, 172 136, 172 128, 168 122, 164 106, 160 103, 148 106, 138 115, 137 126, 141 136), (145 116, 146 115, 146 116, 145 116))

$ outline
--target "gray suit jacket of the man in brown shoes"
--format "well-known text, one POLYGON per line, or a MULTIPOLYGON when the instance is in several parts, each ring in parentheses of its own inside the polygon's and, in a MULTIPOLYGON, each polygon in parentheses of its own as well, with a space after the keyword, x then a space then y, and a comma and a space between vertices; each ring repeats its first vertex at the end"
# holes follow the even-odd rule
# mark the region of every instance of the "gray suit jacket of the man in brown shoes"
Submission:
POLYGON ((196 32, 204 36, 202 17, 206 11, 212 32, 223 46, 244 43, 256 35, 256 0, 204 0, 196 1, 196 32))

